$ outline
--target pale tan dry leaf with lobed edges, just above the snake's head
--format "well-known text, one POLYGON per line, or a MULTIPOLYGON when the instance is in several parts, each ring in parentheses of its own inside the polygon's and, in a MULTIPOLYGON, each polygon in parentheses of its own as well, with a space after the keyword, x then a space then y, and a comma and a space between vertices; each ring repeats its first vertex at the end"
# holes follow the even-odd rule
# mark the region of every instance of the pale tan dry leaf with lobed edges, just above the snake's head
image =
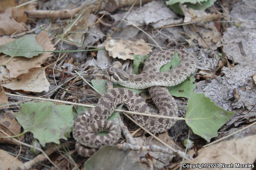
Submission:
POLYGON ((144 40, 124 41, 122 39, 114 40, 110 37, 105 41, 105 45, 109 56, 122 60, 133 60, 133 54, 146 55, 152 52, 152 48, 144 40))

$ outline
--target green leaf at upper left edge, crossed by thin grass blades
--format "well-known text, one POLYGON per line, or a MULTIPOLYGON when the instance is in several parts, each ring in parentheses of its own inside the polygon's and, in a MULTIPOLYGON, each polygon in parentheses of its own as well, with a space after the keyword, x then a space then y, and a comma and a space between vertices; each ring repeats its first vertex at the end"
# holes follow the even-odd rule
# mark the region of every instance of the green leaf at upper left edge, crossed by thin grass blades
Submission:
POLYGON ((36 34, 24 35, 17 40, 9 42, 8 44, 4 44, 0 47, 1 53, 10 55, 11 57, 23 56, 27 58, 32 58, 33 56, 43 53, 39 51, 43 51, 43 48, 36 42, 36 34), (30 50, 33 52, 18 52, 30 50))

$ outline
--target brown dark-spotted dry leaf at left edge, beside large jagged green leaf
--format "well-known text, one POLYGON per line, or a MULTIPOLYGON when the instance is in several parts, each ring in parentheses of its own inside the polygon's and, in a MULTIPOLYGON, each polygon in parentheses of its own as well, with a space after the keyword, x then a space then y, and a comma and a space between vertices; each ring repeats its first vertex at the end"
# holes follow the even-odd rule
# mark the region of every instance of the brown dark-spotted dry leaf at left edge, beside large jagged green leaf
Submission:
MULTIPOLYGON (((9 134, 10 136, 19 135, 21 133, 21 125, 18 121, 15 119, 15 115, 12 112, 12 110, 9 110, 7 112, 4 112, 2 114, 2 117, 0 119, 0 126, 2 126, 1 129, 5 131, 5 133, 9 134), (4 125, 4 126, 3 126, 4 125)), ((5 137, 6 135, 0 132, 0 143, 8 143, 8 144, 18 144, 12 138, 1 138, 5 137)), ((24 138, 24 135, 20 137, 20 140, 24 138)))

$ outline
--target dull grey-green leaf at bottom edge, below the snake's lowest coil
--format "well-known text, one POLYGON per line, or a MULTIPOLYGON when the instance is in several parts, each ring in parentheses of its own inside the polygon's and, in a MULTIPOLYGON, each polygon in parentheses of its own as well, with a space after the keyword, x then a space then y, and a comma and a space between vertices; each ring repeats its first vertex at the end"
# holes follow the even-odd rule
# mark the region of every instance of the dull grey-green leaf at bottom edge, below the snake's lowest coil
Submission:
POLYGON ((124 151, 119 151, 116 146, 103 146, 84 163, 86 170, 94 169, 122 169, 146 170, 139 162, 132 162, 124 151), (104 167, 103 167, 104 165, 104 167))

